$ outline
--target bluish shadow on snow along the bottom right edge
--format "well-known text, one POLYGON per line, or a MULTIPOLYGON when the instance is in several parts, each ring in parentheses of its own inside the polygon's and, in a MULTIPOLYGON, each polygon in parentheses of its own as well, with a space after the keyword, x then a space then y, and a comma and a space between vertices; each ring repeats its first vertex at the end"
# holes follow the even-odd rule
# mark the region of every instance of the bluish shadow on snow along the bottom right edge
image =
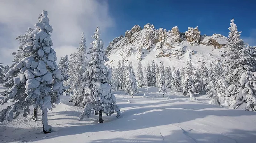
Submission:
MULTIPOLYGON (((166 132, 165 132, 166 134, 166 132)), ((89 143, 245 143, 254 142, 256 140, 256 133, 253 131, 246 131, 235 129, 231 132, 224 133, 200 133, 186 131, 184 129, 175 130, 168 133, 168 135, 138 135, 127 138, 112 138, 112 139, 98 139, 89 143)))

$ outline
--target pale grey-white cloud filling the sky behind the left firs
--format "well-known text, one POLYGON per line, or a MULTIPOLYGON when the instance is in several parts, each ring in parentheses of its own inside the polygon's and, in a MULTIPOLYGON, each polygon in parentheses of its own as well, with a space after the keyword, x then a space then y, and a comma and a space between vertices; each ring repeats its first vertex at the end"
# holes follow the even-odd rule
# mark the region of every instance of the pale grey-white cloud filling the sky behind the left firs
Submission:
MULTIPOLYGON (((8 0, 0 1, 0 52, 10 55, 18 48, 15 37, 24 34, 28 27, 33 28, 42 10, 48 11, 53 27, 52 40, 58 59, 64 54, 73 53, 84 32, 88 40, 100 26, 102 33, 114 26, 109 15, 108 4, 97 0, 8 0), (8 49, 8 50, 6 50, 8 49), (60 53, 60 54, 59 54, 60 53)), ((11 64, 12 56, 1 56, 0 62, 11 64)))

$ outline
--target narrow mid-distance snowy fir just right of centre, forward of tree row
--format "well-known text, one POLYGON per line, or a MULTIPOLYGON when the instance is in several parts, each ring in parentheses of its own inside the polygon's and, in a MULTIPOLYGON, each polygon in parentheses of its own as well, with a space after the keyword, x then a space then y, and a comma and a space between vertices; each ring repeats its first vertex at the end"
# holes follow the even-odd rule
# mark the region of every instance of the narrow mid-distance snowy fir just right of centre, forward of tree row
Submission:
POLYGON ((157 78, 157 83, 158 83, 158 92, 159 93, 163 93, 163 97, 164 94, 167 93, 167 90, 165 88, 165 71, 164 71, 164 64, 163 62, 160 63, 159 66, 159 74, 158 74, 158 78, 157 78))

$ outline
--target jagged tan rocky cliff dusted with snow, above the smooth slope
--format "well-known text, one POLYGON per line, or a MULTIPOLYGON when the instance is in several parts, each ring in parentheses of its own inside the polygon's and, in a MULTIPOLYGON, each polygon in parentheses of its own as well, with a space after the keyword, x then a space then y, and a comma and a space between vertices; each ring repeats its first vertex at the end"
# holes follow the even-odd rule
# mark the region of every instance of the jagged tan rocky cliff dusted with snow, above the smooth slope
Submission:
POLYGON ((133 50, 136 50, 138 60, 141 60, 143 54, 147 52, 157 52, 155 54, 157 58, 176 57, 178 59, 186 51, 186 48, 182 46, 184 42, 191 46, 204 45, 222 48, 226 45, 227 38, 221 34, 201 35, 198 27, 189 27, 188 31, 182 33, 177 26, 171 30, 156 29, 154 25, 148 23, 143 28, 135 25, 131 30, 127 30, 124 36, 116 37, 109 43, 105 53, 110 56, 121 50, 122 52, 119 53, 125 58, 130 56, 133 50), (153 49, 154 51, 152 51, 153 49))

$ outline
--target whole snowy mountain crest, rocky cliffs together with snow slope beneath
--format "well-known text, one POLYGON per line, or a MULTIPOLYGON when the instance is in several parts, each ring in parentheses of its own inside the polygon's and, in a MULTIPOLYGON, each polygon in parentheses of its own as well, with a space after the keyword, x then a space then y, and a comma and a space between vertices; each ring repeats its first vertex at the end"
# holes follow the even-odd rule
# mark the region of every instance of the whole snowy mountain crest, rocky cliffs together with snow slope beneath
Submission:
POLYGON ((114 66, 118 59, 134 61, 135 65, 136 62, 142 60, 144 66, 145 62, 151 60, 156 60, 159 63, 163 60, 173 61, 175 59, 179 60, 181 64, 163 61, 164 65, 180 67, 187 59, 194 60, 192 61, 194 63, 200 62, 200 58, 204 58, 206 62, 207 59, 209 61, 220 60, 219 57, 223 50, 221 48, 225 47, 226 43, 227 37, 221 34, 201 35, 198 27, 188 27, 188 31, 180 32, 179 28, 175 26, 167 31, 163 28, 156 29, 154 25, 148 23, 143 28, 135 25, 131 30, 127 30, 124 36, 121 35, 113 39, 105 53, 110 59, 109 64, 114 66), (197 56, 194 56, 195 54, 197 56))

